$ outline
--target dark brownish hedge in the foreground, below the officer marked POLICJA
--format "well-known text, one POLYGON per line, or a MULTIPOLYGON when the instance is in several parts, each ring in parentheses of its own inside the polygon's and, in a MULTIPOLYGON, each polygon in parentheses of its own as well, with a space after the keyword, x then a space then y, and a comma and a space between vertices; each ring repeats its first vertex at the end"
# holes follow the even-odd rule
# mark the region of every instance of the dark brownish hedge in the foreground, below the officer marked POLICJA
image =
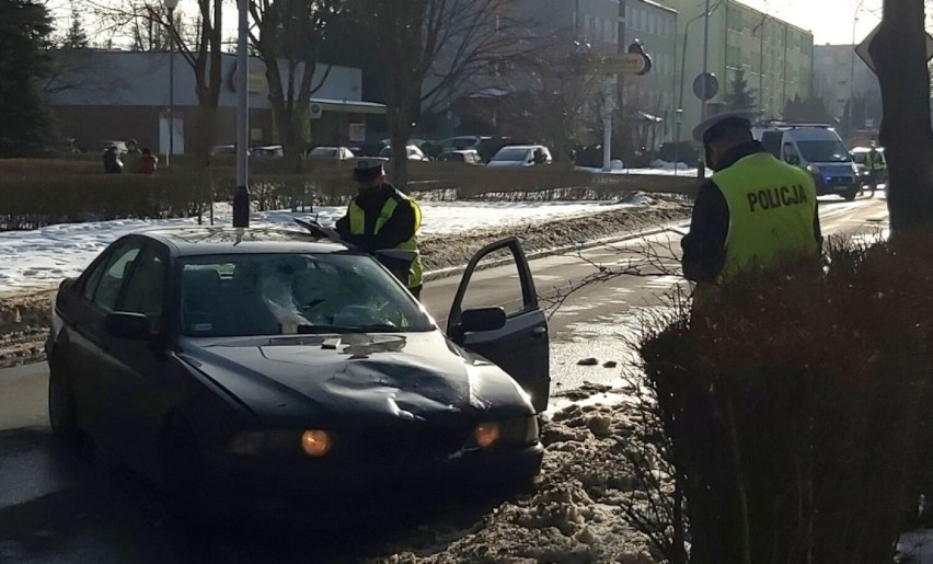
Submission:
POLYGON ((837 245, 642 343, 691 562, 890 562, 933 491, 933 251, 837 245))

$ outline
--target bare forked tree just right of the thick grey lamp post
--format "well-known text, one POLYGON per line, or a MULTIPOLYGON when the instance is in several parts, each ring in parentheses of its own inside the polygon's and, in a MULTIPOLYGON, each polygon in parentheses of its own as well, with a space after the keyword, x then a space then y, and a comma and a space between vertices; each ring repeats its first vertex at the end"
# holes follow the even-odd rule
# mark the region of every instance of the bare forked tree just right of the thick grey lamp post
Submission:
POLYGON ((308 141, 311 96, 331 72, 318 73, 318 51, 329 22, 343 0, 252 0, 253 47, 266 67, 269 103, 287 157, 297 170, 308 141))

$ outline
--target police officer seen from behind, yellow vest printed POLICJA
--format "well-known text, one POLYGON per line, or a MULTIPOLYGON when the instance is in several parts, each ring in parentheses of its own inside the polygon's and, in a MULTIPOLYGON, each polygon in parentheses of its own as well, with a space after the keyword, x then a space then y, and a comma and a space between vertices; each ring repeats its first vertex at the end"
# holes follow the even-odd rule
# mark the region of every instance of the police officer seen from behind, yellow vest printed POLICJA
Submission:
POLYGON ((727 112, 693 130, 715 171, 700 186, 681 242, 683 274, 698 283, 694 304, 718 293, 732 275, 816 257, 822 246, 813 179, 756 141, 751 120, 749 113, 727 112))

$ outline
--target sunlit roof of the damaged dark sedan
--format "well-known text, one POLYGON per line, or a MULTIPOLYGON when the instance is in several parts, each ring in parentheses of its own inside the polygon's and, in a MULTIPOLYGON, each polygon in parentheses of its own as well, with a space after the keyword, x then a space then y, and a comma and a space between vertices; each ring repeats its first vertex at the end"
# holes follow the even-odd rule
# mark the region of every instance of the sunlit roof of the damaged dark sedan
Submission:
POLYGON ((159 241, 174 256, 247 253, 327 254, 352 251, 346 244, 306 231, 270 228, 173 227, 134 233, 159 241))

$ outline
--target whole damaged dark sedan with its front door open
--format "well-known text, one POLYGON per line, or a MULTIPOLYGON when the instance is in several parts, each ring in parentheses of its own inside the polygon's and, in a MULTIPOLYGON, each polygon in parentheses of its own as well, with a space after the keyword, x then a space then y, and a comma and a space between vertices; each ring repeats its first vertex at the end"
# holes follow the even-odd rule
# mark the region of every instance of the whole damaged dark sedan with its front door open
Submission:
POLYGON ((125 235, 59 287, 51 428, 170 490, 525 482, 541 464, 550 376, 517 239, 473 257, 448 319, 445 334, 376 258, 310 233, 125 235), (520 312, 463 311, 476 265, 503 252, 520 312))

